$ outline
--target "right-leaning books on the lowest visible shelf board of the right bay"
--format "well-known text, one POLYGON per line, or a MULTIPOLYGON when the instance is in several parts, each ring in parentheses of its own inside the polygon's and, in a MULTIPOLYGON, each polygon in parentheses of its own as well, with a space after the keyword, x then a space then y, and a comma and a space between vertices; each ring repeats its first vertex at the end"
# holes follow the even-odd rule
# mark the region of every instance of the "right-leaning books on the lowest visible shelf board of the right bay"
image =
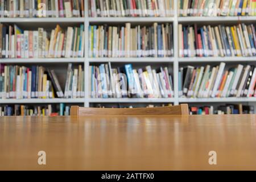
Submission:
POLYGON ((256 97, 256 68, 241 65, 225 70, 225 63, 215 67, 181 67, 179 69, 179 96, 256 97))

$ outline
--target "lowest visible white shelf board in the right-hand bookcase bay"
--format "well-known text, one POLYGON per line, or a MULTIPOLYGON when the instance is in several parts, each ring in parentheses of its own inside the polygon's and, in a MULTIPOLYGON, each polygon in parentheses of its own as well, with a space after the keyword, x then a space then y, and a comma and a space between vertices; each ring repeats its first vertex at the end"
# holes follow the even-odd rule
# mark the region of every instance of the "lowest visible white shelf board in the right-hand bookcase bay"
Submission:
POLYGON ((179 98, 179 102, 256 102, 255 97, 228 97, 228 98, 179 98))

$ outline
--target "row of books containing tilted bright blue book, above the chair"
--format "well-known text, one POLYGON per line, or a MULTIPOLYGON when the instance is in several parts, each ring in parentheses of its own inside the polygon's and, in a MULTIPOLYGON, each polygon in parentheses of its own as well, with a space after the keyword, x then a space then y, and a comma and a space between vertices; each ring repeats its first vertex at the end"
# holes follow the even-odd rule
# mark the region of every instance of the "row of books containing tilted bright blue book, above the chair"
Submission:
POLYGON ((147 66, 133 69, 131 64, 112 68, 110 63, 89 67, 92 98, 168 98, 174 97, 172 76, 167 67, 158 71, 147 66))

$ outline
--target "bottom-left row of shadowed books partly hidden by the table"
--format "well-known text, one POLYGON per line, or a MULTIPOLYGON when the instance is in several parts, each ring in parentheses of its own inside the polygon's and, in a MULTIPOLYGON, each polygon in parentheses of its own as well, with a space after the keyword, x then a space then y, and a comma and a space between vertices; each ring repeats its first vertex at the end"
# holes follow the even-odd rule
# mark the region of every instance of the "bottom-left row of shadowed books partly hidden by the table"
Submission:
POLYGON ((10 116, 10 115, 69 115, 70 106, 65 106, 61 103, 58 108, 48 104, 46 106, 34 106, 34 105, 5 105, 0 106, 0 116, 10 116), (59 111, 57 111, 59 110, 59 111))

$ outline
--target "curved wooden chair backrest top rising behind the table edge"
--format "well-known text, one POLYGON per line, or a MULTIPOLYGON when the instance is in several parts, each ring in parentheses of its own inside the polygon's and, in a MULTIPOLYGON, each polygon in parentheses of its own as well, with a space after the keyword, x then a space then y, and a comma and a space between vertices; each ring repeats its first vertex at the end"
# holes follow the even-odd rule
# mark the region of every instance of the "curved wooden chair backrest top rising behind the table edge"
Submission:
POLYGON ((97 108, 71 106, 71 115, 188 115, 188 105, 141 108, 97 108))

